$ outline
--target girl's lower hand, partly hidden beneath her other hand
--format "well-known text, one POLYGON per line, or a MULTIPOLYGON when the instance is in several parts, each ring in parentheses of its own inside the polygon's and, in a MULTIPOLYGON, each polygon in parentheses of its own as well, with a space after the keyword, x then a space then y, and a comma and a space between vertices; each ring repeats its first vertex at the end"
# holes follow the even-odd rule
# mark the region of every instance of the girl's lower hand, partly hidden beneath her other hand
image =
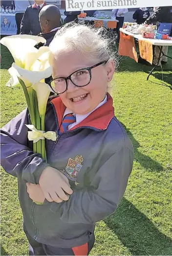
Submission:
POLYGON ((45 196, 43 194, 43 190, 41 189, 40 185, 26 183, 27 186, 27 193, 29 194, 30 199, 33 202, 43 203, 45 200, 45 196))

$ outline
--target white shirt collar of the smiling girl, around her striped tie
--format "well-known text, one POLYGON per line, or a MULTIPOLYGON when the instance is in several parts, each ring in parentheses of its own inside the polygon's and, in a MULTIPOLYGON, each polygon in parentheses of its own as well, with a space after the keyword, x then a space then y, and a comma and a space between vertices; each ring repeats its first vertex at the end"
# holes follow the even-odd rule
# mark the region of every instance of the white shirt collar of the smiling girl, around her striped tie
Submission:
MULTIPOLYGON (((70 130, 71 128, 73 128, 74 126, 78 125, 79 123, 81 123, 84 119, 86 119, 87 116, 89 116, 92 112, 94 112, 97 108, 99 108, 100 106, 104 105, 107 102, 107 95, 105 97, 105 99, 103 100, 103 102, 100 102, 92 111, 86 113, 85 115, 79 115, 76 114, 76 122, 69 125, 68 129, 70 130)), ((69 108, 66 107, 65 111, 64 111, 64 116, 67 114, 73 114, 75 115, 69 108)), ((63 118, 64 118, 63 116, 63 118)))

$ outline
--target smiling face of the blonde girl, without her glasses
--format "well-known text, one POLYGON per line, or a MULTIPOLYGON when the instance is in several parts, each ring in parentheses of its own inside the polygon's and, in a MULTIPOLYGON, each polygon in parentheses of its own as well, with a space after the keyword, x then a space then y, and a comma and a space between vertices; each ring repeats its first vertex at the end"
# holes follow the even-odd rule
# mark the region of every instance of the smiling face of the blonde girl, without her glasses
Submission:
MULTIPOLYGON (((73 72, 91 67, 100 61, 90 61, 79 52, 64 52, 53 59, 53 78, 68 77, 73 72)), ((64 105, 75 114, 84 115, 92 111, 105 98, 108 82, 114 73, 114 62, 109 60, 91 70, 91 81, 85 87, 75 86, 69 79, 68 88, 60 94, 64 105)))

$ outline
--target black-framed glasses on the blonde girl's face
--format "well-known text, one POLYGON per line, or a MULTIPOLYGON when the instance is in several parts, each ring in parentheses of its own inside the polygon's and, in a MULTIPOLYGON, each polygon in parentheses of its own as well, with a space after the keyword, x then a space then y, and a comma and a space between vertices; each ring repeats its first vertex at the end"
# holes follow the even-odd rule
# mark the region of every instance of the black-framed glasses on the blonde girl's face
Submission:
POLYGON ((91 67, 88 68, 82 68, 79 69, 75 72, 73 72, 70 76, 68 77, 57 77, 57 78, 52 78, 50 77, 49 80, 49 85, 52 88, 52 90, 55 93, 62 94, 67 90, 68 84, 67 80, 69 79, 75 86, 78 87, 84 87, 88 85, 91 81, 91 70, 95 67, 98 67, 104 63, 107 63, 108 60, 101 61, 91 67))

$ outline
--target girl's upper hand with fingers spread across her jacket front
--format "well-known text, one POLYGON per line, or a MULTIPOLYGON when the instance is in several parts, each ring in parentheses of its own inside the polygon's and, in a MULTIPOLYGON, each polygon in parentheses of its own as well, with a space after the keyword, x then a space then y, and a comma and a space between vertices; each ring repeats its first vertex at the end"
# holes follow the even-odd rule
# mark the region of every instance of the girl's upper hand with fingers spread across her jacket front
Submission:
POLYGON ((69 199, 73 193, 68 179, 55 168, 50 166, 43 170, 39 180, 40 187, 43 190, 47 201, 61 203, 69 199))

